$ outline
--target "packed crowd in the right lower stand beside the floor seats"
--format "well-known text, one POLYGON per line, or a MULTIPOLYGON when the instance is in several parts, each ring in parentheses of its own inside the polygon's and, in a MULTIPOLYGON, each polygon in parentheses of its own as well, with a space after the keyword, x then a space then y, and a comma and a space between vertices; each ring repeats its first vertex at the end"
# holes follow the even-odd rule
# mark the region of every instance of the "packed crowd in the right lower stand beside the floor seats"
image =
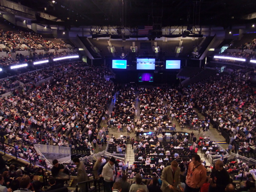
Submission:
POLYGON ((239 146, 239 152, 255 153, 256 90, 244 74, 212 77, 183 89, 184 95, 217 122, 239 146))

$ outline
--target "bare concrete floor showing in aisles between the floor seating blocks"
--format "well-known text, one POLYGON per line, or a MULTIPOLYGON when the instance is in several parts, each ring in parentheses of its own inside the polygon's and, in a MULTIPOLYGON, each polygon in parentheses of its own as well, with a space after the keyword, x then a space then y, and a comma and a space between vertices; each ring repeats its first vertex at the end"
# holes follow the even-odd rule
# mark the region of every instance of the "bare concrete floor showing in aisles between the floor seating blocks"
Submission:
MULTIPOLYGON (((114 96, 114 97, 115 97, 115 96, 114 96)), ((115 97, 115 101, 116 101, 116 97, 115 97)), ((115 102, 115 101, 114 101, 114 102, 115 102)), ((112 112, 112 109, 113 109, 113 106, 114 106, 114 102, 111 102, 111 104, 110 104, 109 107, 108 107, 108 112, 109 112, 109 113, 112 112)), ((138 102, 137 100, 135 101, 135 107, 137 108, 137 111, 138 111, 137 114, 138 114, 138 115, 135 116, 134 118, 135 118, 135 119, 139 119, 139 118, 140 118, 140 105, 139 105, 139 102, 138 102)), ((198 112, 197 109, 194 109, 194 110, 196 110, 196 111, 198 112)), ((198 113, 198 116, 199 116, 200 118, 204 118, 204 116, 203 116, 201 113, 198 113)), ((180 128, 178 122, 177 122, 175 119, 172 121, 172 123, 175 123, 175 125, 176 125, 176 130, 177 130, 177 131, 181 131, 181 128, 180 128)), ((106 127, 107 124, 103 124, 103 123, 100 124, 100 128, 103 128, 104 126, 106 127)), ((184 128, 183 131, 184 131, 184 132, 187 132, 187 133, 191 133, 191 132, 192 132, 191 130, 188 130, 187 128, 184 128)), ((193 132, 194 132, 194 134, 195 134, 195 136, 196 136, 197 138, 199 138, 199 136, 202 136, 202 135, 203 135, 203 131, 201 131, 201 133, 200 133, 199 135, 198 135, 198 131, 193 131, 193 132)), ((113 136, 116 137, 116 138, 120 136, 120 133, 117 133, 117 128, 116 128, 116 127, 113 127, 112 129, 109 129, 109 133, 108 133, 108 134, 109 134, 109 135, 113 134, 113 136)), ((123 128, 123 134, 126 134, 126 135, 127 135, 127 131, 126 131, 125 128, 123 128)), ((224 137, 223 137, 222 135, 220 135, 219 132, 218 132, 215 128, 212 128, 212 125, 210 125, 209 131, 206 131, 206 132, 205 132, 205 136, 207 136, 207 137, 209 136, 212 141, 216 141, 216 142, 219 143, 223 148, 227 148, 227 146, 228 146, 228 144, 226 143, 224 137)), ((136 136, 135 136, 135 133, 132 133, 132 132, 131 132, 130 137, 134 137, 134 139, 135 139, 135 137, 136 137, 136 136)), ((105 148, 106 148, 106 145, 103 145, 103 146, 102 146, 102 150, 99 150, 99 148, 96 147, 95 153, 98 153, 98 152, 100 152, 100 151, 103 151, 103 150, 105 150, 105 148)))

